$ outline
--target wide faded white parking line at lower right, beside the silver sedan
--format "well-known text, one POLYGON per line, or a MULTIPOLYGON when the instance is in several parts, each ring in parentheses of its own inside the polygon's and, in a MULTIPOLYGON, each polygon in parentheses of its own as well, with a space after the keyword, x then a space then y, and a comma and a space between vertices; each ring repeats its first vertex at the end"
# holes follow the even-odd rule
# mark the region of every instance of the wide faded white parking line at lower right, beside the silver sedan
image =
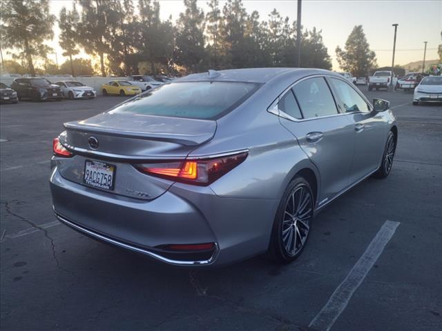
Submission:
POLYGON ((336 319, 345 310, 349 300, 352 299, 354 291, 361 285, 369 270, 381 256, 385 245, 392 239, 399 222, 385 221, 381 230, 378 231, 372 242, 369 243, 364 254, 350 270, 344 281, 334 290, 332 297, 325 304, 322 310, 310 322, 309 328, 315 331, 328 331, 332 328, 336 319))

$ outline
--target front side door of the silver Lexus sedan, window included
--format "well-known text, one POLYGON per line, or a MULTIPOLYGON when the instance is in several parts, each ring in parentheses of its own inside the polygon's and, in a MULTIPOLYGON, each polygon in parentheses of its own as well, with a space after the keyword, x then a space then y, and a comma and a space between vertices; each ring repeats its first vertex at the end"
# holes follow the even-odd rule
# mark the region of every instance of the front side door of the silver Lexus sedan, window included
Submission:
POLYGON ((352 122, 355 150, 349 180, 354 183, 374 172, 381 162, 387 126, 382 112, 373 112, 361 92, 342 79, 329 77, 340 110, 352 122))

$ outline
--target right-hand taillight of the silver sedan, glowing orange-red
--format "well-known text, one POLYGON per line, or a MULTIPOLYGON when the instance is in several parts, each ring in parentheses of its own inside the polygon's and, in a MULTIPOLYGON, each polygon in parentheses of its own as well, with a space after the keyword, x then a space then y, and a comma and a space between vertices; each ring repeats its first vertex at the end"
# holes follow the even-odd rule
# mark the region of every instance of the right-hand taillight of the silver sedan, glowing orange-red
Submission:
POLYGON ((210 159, 186 159, 134 165, 145 174, 195 185, 209 185, 247 158, 247 152, 210 159))

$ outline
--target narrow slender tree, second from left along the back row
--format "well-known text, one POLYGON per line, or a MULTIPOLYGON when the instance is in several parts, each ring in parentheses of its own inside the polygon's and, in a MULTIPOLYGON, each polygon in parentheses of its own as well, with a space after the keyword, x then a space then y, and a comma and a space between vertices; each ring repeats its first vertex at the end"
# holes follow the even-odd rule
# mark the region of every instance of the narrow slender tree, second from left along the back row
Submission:
POLYGON ((79 22, 79 14, 77 9, 66 10, 66 7, 61 8, 58 26, 60 28, 59 45, 64 49, 63 56, 69 57, 70 74, 75 77, 72 57, 79 53, 77 49, 77 24, 79 22))

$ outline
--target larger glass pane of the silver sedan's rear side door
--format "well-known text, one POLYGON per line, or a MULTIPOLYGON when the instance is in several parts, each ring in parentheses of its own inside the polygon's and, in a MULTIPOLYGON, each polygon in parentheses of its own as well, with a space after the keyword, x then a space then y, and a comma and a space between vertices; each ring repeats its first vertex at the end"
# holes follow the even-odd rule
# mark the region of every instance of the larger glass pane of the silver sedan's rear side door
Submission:
POLYGON ((305 119, 338 114, 332 92, 323 77, 305 79, 293 90, 305 119))

